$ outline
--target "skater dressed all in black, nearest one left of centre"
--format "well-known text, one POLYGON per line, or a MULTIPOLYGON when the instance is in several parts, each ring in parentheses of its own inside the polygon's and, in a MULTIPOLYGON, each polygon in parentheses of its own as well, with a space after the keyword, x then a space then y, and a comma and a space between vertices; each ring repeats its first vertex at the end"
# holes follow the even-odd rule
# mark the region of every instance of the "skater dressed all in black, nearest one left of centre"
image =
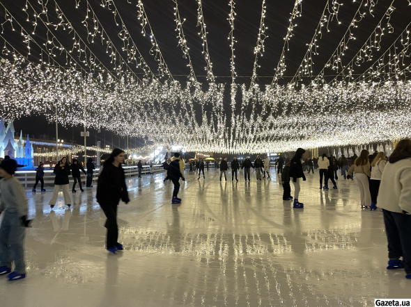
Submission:
POLYGON ((121 165, 124 163, 124 151, 114 149, 110 158, 104 161, 104 168, 98 177, 97 194, 95 198, 102 208, 107 220, 106 249, 113 254, 123 250, 118 242, 117 206, 120 199, 128 204, 130 201, 125 185, 125 174, 121 165))

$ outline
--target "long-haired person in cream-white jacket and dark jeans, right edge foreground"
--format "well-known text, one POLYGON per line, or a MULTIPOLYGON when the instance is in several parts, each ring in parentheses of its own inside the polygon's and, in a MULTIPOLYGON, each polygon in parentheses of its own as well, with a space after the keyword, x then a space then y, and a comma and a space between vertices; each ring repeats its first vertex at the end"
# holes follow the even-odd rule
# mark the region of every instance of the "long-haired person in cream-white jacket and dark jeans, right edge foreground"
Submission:
POLYGON ((377 201, 387 234, 387 269, 405 268, 405 277, 411 279, 411 140, 398 142, 389 157, 377 201))

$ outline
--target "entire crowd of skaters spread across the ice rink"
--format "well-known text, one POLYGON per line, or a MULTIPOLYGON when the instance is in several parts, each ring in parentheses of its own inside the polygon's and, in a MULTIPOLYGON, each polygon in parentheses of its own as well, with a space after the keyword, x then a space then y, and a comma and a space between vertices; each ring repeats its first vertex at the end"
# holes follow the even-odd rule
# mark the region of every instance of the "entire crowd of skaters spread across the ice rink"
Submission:
MULTIPOLYGON (((351 161, 344 156, 337 160, 333 156, 327 157, 324 154, 320 158, 308 159, 306 162, 303 158, 304 153, 305 150, 299 148, 290 160, 282 157, 277 160, 277 172, 281 174, 281 184, 284 188, 284 201, 293 200, 293 208, 304 208, 304 204, 299 201, 301 181, 307 180, 304 172, 313 174, 314 169, 319 169, 320 188, 326 190, 328 180, 334 183, 333 188, 336 189, 337 169, 341 169, 344 179, 352 179, 353 174, 355 174, 359 186, 361 206, 370 206, 373 210, 378 204, 382 208, 389 251, 387 269, 405 269, 407 274, 405 277, 411 279, 411 140, 398 142, 389 158, 384 153, 375 152, 369 155, 368 151, 363 150, 359 157, 350 158, 351 161), (325 180, 324 186, 323 179, 325 180), (293 182, 294 185, 294 197, 290 193, 290 182, 293 182)), ((123 250, 123 245, 118 242, 118 204, 120 201, 125 204, 130 201, 122 167, 124 162, 125 152, 121 149, 114 149, 111 156, 104 161, 98 176, 96 199, 107 217, 104 224, 107 228, 106 249, 113 254, 123 250)), ((79 179, 80 172, 85 172, 78 161, 74 161, 72 165, 64 157, 54 168, 56 179, 53 197, 49 203, 52 208, 56 201, 56 193, 59 190, 63 190, 65 204, 70 207, 70 204, 67 204, 69 200, 66 199, 68 176, 71 174, 75 179, 79 179)), ((206 178, 204 165, 203 159, 196 161, 196 169, 199 170, 198 179, 200 179, 201 172, 203 172, 203 179, 206 178)), ((257 156, 254 163, 247 157, 241 164, 235 157, 231 161, 232 181, 234 177, 238 181, 237 172, 240 168, 245 169, 245 181, 250 181, 251 168, 256 169, 257 180, 261 181, 262 175, 265 178, 265 174, 270 179, 269 165, 270 160, 267 156, 264 159, 257 156)), ((27 219, 26 192, 22 183, 14 176, 17 166, 16 161, 10 158, 2 160, 0 163, 0 214, 3 213, 0 226, 0 276, 7 274, 9 281, 26 277, 24 233, 25 228, 31 222, 27 219), (12 272, 13 263, 14 270, 12 272)), ((87 172, 85 172, 87 176, 88 167, 92 170, 92 167, 87 165, 87 172)), ((180 204, 181 199, 178 198, 179 181, 180 179, 185 181, 185 163, 181 160, 180 154, 176 153, 173 155, 173 159, 166 160, 164 168, 166 169, 166 179, 171 180, 174 185, 171 202, 172 204, 180 204)), ((227 180, 227 158, 219 163, 219 168, 220 181, 222 181, 223 175, 224 179, 227 180)), ((191 167, 190 172, 192 172, 191 167)), ((44 175, 42 165, 38 167, 37 174, 38 176, 44 175)), ((79 180, 75 180, 72 192, 75 191, 76 181, 79 183, 79 180)), ((42 183, 42 181, 40 182, 42 183)), ((91 186, 91 183, 87 182, 87 186, 91 186)), ((80 190, 82 190, 81 185, 80 190)))

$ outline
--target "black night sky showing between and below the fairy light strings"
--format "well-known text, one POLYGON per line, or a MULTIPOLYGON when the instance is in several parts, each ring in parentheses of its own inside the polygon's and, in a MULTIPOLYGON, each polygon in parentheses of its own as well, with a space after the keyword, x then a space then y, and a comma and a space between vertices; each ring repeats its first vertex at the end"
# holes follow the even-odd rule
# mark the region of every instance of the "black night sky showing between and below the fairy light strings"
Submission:
MULTIPOLYGON (((29 1, 34 7, 40 11, 40 6, 37 0, 29 1)), ((75 30, 86 40, 85 27, 82 24, 86 14, 86 1, 77 0, 79 2, 79 8, 75 8, 75 0, 59 0, 59 6, 63 13, 70 19, 72 26, 75 30)), ((258 68, 258 84, 265 85, 270 84, 272 76, 274 75, 274 68, 277 67, 279 56, 283 49, 284 37, 286 36, 286 28, 288 27, 288 18, 293 10, 294 0, 267 0, 267 13, 265 18, 265 24, 268 27, 267 35, 269 37, 265 40, 265 53, 263 58, 258 60, 258 64, 261 68, 258 68)), ((279 83, 286 84, 290 81, 289 77, 294 76, 297 71, 297 67, 300 65, 304 54, 307 51, 307 44, 311 41, 313 33, 319 22, 320 15, 323 13, 325 7, 325 0, 303 0, 302 1, 302 17, 295 19, 295 23, 298 25, 295 28, 295 36, 291 38, 289 49, 286 52, 286 78, 283 78, 279 83)), ((352 0, 339 0, 343 3, 343 6, 339 10, 339 21, 329 24, 330 32, 325 32, 323 38, 318 40, 319 55, 313 58, 313 74, 316 75, 323 69, 323 66, 331 56, 332 52, 338 46, 343 34, 346 32, 352 17, 354 16, 359 3, 361 1, 352 0)), ((378 24, 385 11, 391 4, 392 0, 378 0, 375 1, 377 5, 374 8, 374 16, 371 17, 368 10, 363 9, 366 12, 366 17, 359 23, 359 27, 355 28, 353 34, 357 40, 350 42, 350 49, 346 52, 346 56, 343 58, 343 64, 347 64, 351 58, 357 53, 364 41, 369 38, 369 35, 378 24)), ((2 1, 17 22, 20 22, 23 26, 27 27, 29 31, 32 30, 32 26, 29 22, 26 22, 26 14, 22 11, 26 3, 25 0, 13 0, 2 1)), ((118 31, 120 27, 116 26, 114 22, 113 14, 107 8, 102 8, 100 4, 101 0, 90 0, 89 3, 95 14, 103 24, 104 29, 109 34, 109 38, 114 44, 121 49, 122 42, 118 38, 118 31)), ((115 1, 116 6, 120 12, 120 16, 125 22, 134 42, 139 47, 144 59, 151 67, 153 72, 157 72, 157 64, 153 56, 150 56, 149 49, 151 47, 150 40, 147 37, 141 35, 141 26, 137 20, 138 8, 136 7, 137 0, 128 1, 115 1), (127 3, 131 2, 131 3, 127 3)), ((172 0, 143 0, 144 8, 148 16, 150 25, 153 28, 153 33, 157 42, 160 44, 160 49, 164 56, 171 74, 175 76, 176 80, 180 81, 182 85, 185 85, 187 81, 187 75, 189 74, 189 68, 187 60, 183 58, 183 53, 180 47, 177 47, 178 39, 176 38, 177 32, 176 23, 174 22, 172 0)), ((235 31, 234 36, 237 43, 235 44, 235 68, 238 73, 237 83, 249 84, 254 63, 254 47, 256 46, 256 38, 258 35, 258 26, 261 18, 261 1, 260 0, 237 0, 235 1, 235 31)), ((364 0, 366 3, 366 0, 364 0)), ((196 26, 197 22, 197 8, 198 4, 195 0, 179 0, 180 17, 186 18, 186 22, 183 26, 185 35, 187 38, 187 44, 190 48, 190 56, 196 73, 200 82, 207 83, 204 67, 206 62, 204 56, 201 53, 201 39, 199 38, 199 27, 196 26)), ((381 51, 373 52, 374 58, 378 58, 382 52, 384 52, 391 44, 398 38, 398 35, 403 31, 405 26, 411 22, 411 7, 408 6, 408 1, 396 0, 394 1, 394 7, 396 10, 391 15, 391 24, 394 26, 394 33, 385 35, 381 44, 381 51)), ((56 14, 54 1, 49 0, 47 8, 49 10, 49 16, 52 20, 56 20, 56 14)), ((228 33, 228 13, 230 6, 228 6, 228 0, 203 0, 203 13, 204 19, 208 29, 208 44, 210 50, 210 58, 213 63, 213 72, 217 83, 226 83, 226 97, 224 97, 226 107, 229 108, 229 88, 231 83, 231 71, 230 71, 230 58, 231 49, 229 47, 228 33)), ((30 11, 30 10, 29 10, 30 11)), ((0 6, 0 14, 3 14, 4 10, 0 6)), ((44 18, 45 15, 42 15, 44 18)), ((117 17, 118 18, 118 17, 117 17)), ((16 27, 18 28, 18 26, 16 27)), ((38 21, 38 28, 36 29, 35 39, 39 43, 45 42, 45 26, 42 25, 40 20, 38 21)), ((66 47, 72 46, 72 35, 68 35, 68 31, 59 29, 54 31, 55 35, 59 38, 60 42, 66 47)), ((3 33, 4 37, 22 53, 26 54, 24 44, 22 44, 22 37, 18 31, 11 32, 7 27, 3 33)), ((1 40, 1 38, 0 38, 1 40)), ((97 41, 97 40, 96 40, 97 41)), ((33 45, 33 44, 32 44, 33 45)), ((106 48, 99 42, 89 44, 89 47, 93 50, 95 55, 105 64, 107 67, 112 67, 109 56, 107 56, 106 48)), ((33 47, 35 48, 35 47, 33 47)), ((33 56, 31 60, 36 62, 36 51, 33 49, 33 56)), ((65 58, 57 58, 59 63, 63 65, 65 58)), ((365 63, 362 67, 356 69, 357 73, 365 71, 366 68, 371 66, 373 61, 365 63)), ((135 70, 136 73, 141 73, 139 70, 135 70)), ((332 70, 326 70, 326 74, 334 74, 332 70)), ((329 79, 331 80, 331 79, 329 79)), ((309 82, 309 79, 304 81, 309 82)), ((15 122, 16 130, 24 129, 24 132, 32 134, 45 133, 48 135, 54 135, 54 124, 47 125, 45 118, 31 117, 18 119, 15 122)), ((60 128, 61 135, 67 140, 72 139, 72 128, 64 129, 60 128)), ((81 127, 75 128, 75 140, 82 142, 80 138, 81 127)), ((95 134, 95 131, 91 131, 91 134, 95 134)), ((110 133, 106 133, 107 135, 110 133)), ((98 138, 103 139, 104 134, 98 133, 98 138)), ((110 137, 111 140, 111 137, 110 137)), ((114 142, 118 144, 118 139, 114 142)))

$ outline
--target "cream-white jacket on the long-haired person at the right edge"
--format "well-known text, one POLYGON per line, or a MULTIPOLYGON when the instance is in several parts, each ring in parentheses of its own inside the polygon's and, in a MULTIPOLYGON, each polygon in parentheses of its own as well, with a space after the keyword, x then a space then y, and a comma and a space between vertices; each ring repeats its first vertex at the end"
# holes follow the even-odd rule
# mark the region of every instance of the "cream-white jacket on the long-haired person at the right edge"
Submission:
POLYGON ((387 163, 382 173, 378 207, 391 212, 411 214, 411 158, 387 163))

